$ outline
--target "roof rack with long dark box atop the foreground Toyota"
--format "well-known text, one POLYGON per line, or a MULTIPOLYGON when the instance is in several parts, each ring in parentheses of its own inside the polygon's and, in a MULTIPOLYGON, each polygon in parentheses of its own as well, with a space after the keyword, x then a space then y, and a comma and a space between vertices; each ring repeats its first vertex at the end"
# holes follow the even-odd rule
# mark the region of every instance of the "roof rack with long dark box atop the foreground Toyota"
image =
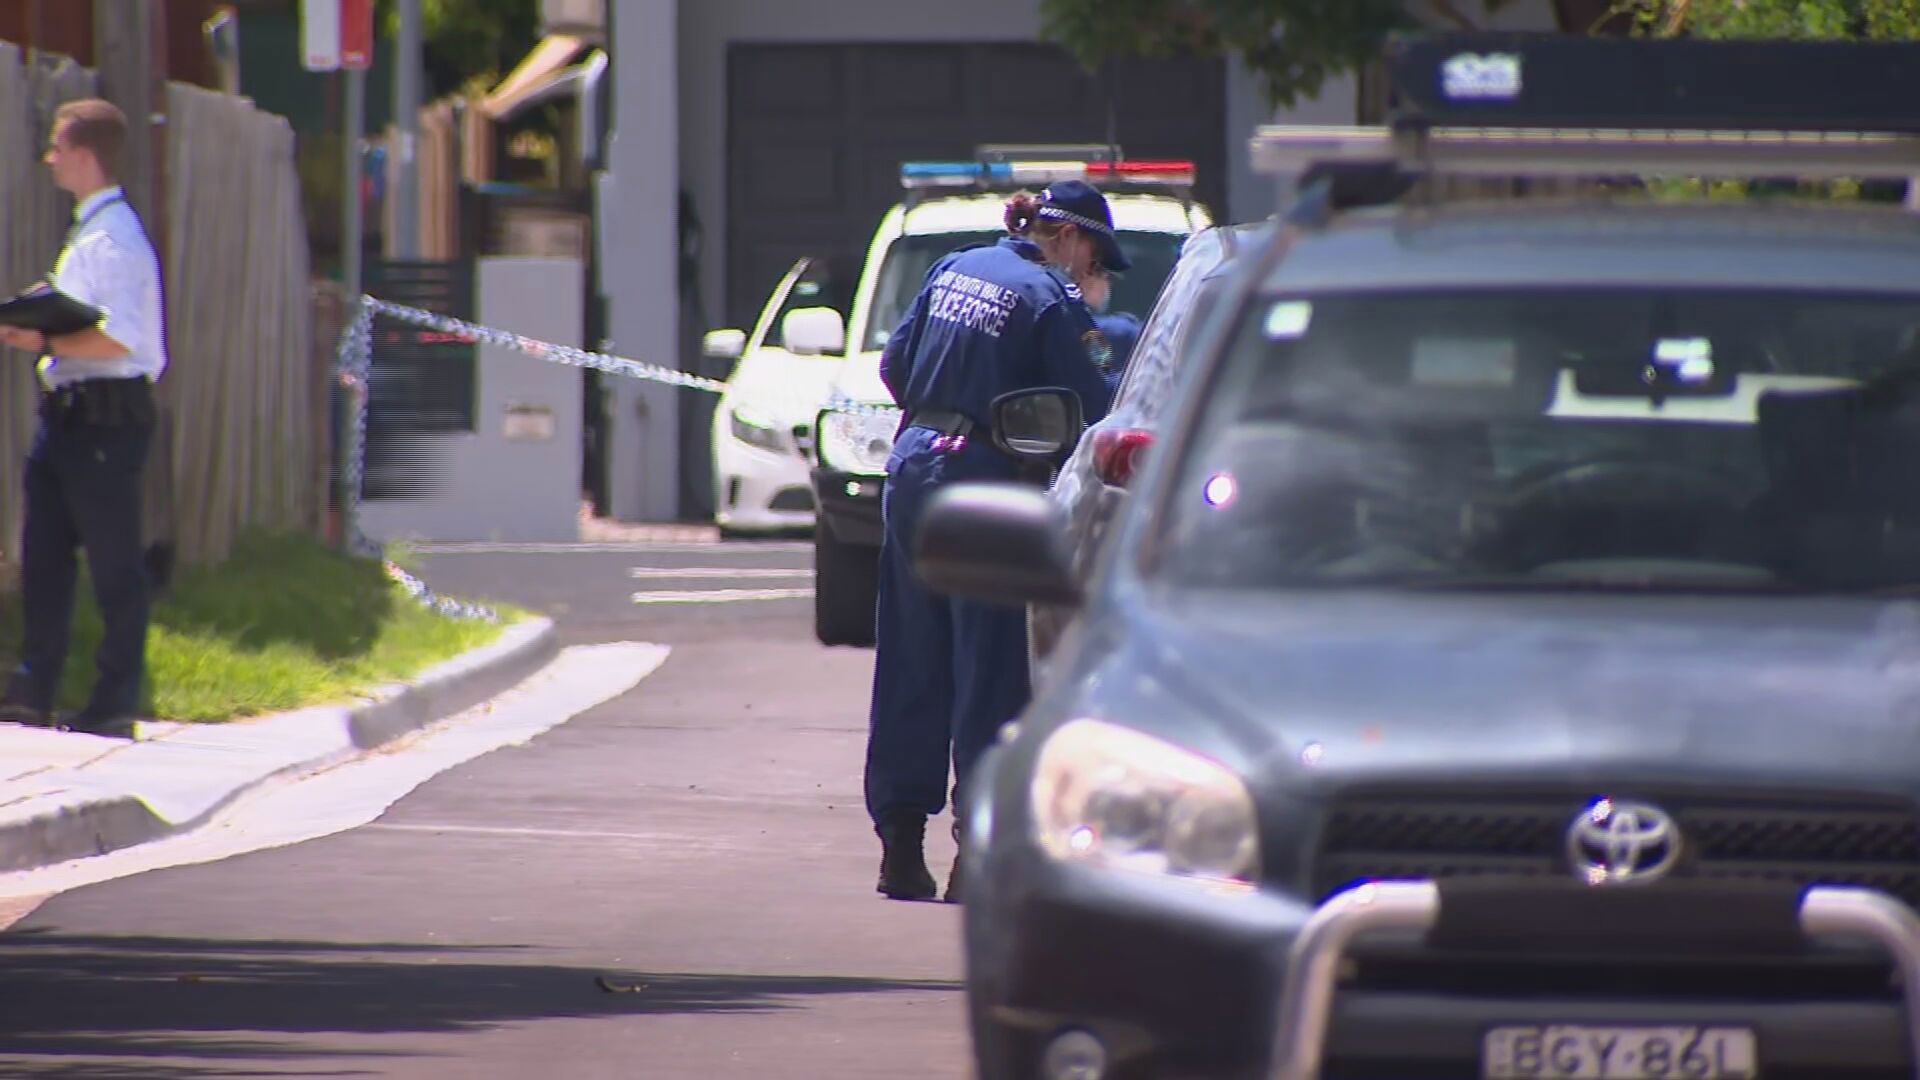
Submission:
POLYGON ((1920 42, 1394 38, 1380 127, 1267 125, 1263 173, 1920 177, 1920 42))

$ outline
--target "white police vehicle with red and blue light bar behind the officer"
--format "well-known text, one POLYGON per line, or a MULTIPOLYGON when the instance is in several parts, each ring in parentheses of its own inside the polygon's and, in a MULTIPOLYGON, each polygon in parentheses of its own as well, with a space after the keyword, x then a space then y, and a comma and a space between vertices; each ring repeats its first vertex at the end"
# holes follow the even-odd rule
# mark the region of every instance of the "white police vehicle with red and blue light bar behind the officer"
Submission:
POLYGON ((1133 269, 1114 281, 1112 311, 1144 317, 1181 244, 1212 225, 1192 202, 1190 161, 1108 160, 1108 148, 985 146, 975 161, 908 161, 906 198, 874 231, 837 369, 816 423, 812 490, 814 632, 828 646, 872 646, 879 567, 879 490, 900 415, 879 380, 879 352, 920 292, 927 267, 964 244, 1006 234, 1006 196, 1052 181, 1102 188, 1133 269))

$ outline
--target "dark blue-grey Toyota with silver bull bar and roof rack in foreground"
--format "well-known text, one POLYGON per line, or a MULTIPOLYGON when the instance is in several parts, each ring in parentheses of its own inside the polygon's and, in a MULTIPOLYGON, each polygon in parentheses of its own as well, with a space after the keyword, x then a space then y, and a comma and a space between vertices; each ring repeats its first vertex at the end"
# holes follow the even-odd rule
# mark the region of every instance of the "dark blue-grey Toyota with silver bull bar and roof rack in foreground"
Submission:
POLYGON ((1256 152, 1417 183, 1236 273, 1089 582, 925 511, 1077 609, 962 798, 975 1074, 1916 1076, 1920 215, 1615 179, 1910 184, 1920 46, 1386 60, 1256 152))

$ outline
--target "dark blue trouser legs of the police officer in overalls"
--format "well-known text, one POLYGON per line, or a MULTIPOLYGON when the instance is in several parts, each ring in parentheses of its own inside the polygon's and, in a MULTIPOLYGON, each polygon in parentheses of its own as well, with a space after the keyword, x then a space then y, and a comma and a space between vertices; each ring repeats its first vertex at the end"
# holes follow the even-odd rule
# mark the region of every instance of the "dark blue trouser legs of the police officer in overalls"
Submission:
POLYGON ((879 611, 874 705, 868 717, 866 809, 933 817, 954 799, 1000 724, 1027 705, 1027 613, 927 590, 912 567, 912 538, 927 500, 948 482, 1010 479, 991 446, 931 450, 933 432, 906 429, 881 488, 879 611))

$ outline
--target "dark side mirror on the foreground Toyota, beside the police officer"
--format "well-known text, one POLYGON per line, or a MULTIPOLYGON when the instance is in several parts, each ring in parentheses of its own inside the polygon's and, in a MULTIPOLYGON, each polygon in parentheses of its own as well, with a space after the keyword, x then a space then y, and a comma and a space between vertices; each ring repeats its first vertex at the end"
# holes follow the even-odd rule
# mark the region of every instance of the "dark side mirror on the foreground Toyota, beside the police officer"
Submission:
POLYGON ((914 569, 935 592, 985 603, 1079 603, 1054 503, 1029 484, 962 482, 933 496, 914 569))

